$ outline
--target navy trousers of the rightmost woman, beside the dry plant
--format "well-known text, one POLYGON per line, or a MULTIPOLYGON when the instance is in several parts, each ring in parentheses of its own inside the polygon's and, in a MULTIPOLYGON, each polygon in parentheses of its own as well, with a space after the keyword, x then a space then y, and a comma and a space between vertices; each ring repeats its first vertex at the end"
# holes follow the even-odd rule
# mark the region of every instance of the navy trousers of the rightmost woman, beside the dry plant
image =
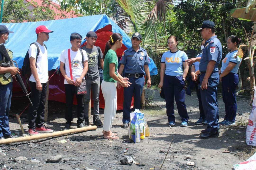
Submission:
POLYGON ((222 77, 222 98, 225 103, 225 118, 227 121, 236 121, 237 102, 236 87, 239 83, 237 73, 228 73, 222 77))

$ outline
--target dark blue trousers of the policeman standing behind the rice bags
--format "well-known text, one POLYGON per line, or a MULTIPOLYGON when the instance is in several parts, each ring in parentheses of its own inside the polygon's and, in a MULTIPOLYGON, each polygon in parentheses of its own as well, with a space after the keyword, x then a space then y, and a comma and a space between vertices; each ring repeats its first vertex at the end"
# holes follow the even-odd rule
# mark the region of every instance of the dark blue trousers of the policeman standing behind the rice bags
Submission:
POLYGON ((141 109, 141 95, 144 87, 145 78, 129 77, 129 82, 132 83, 130 87, 124 88, 123 123, 129 123, 131 120, 130 113, 132 96, 134 99, 133 109, 141 109))

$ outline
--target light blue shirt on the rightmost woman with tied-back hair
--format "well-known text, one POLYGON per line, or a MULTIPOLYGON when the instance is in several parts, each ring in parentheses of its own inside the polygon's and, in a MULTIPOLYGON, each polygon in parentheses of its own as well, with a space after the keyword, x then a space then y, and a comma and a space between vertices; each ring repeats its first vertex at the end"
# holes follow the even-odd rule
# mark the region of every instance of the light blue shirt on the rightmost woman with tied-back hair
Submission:
POLYGON ((222 60, 221 73, 228 67, 229 62, 235 63, 236 66, 230 71, 230 73, 237 73, 239 66, 242 62, 241 58, 237 56, 238 50, 234 50, 226 55, 226 57, 222 60))

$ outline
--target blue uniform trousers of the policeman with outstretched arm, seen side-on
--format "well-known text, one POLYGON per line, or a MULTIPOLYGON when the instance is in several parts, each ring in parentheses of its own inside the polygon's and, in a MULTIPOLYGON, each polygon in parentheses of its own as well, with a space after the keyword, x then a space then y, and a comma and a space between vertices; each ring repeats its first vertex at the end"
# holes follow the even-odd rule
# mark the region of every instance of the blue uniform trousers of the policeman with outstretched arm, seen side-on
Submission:
MULTIPOLYGON (((200 84, 204 79, 205 73, 200 75, 200 84)), ((204 112, 207 125, 208 132, 216 132, 219 128, 219 108, 217 101, 217 86, 219 84, 219 73, 212 72, 210 77, 208 78, 208 86, 207 89, 200 90, 201 93, 201 101, 203 104, 204 112)))

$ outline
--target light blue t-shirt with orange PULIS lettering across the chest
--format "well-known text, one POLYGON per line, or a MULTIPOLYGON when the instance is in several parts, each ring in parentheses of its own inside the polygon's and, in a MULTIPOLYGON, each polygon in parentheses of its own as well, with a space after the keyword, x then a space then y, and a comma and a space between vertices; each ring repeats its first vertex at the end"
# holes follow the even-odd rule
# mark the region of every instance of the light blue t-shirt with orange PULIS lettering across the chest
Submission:
POLYGON ((165 63, 166 75, 178 76, 183 74, 183 62, 188 59, 187 54, 184 51, 176 51, 172 53, 171 51, 167 51, 163 54, 161 63, 165 63))

